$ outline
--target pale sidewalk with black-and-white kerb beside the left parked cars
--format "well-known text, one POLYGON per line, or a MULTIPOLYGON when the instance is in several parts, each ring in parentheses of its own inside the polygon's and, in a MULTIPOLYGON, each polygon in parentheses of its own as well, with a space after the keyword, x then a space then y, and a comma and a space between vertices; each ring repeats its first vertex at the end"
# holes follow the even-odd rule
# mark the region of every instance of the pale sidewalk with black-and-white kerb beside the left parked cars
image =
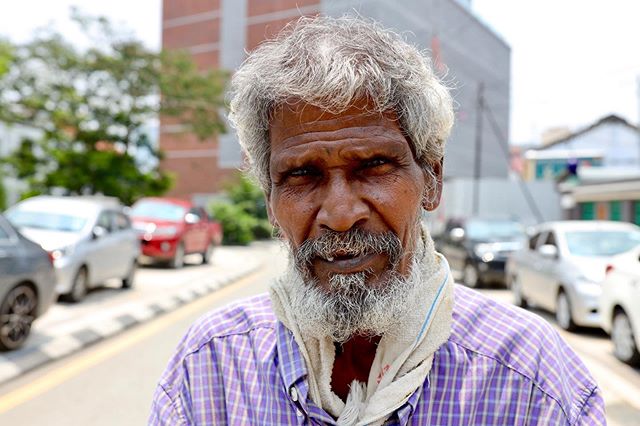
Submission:
MULTIPOLYGON (((25 347, 0 354, 0 384, 137 324, 173 311, 200 296, 257 271, 263 265, 264 249, 268 244, 220 247, 214 254, 213 264, 203 267, 204 269, 187 267, 184 270, 147 270, 143 268, 136 280, 144 278, 141 278, 141 275, 153 281, 157 276, 163 276, 165 281, 171 281, 171 284, 158 283, 149 290, 151 286, 147 283, 147 289, 140 290, 136 294, 119 292, 112 296, 106 291, 104 300, 96 299, 97 302, 88 301, 84 305, 83 302, 78 305, 52 307, 47 314, 36 320, 32 335, 25 347), (70 315, 69 312, 74 310, 77 312, 70 315)), ((136 290, 135 286, 134 290, 136 290)))

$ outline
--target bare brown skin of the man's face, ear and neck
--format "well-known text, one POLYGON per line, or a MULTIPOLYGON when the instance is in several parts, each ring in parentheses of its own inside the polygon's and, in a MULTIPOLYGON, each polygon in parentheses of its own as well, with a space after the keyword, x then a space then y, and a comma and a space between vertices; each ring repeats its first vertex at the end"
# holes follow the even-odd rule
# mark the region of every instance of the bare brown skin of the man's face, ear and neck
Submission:
MULTIPOLYGON (((327 230, 353 227, 373 233, 393 231, 410 252, 418 236, 415 223, 420 206, 435 209, 440 201, 441 163, 432 167, 438 185, 428 194, 435 202, 423 202, 427 175, 393 112, 366 112, 355 103, 341 114, 330 114, 301 102, 275 111, 270 126, 271 190, 267 210, 294 247, 327 230)), ((397 271, 409 272, 405 255, 397 271)), ((386 255, 341 257, 329 262, 317 258, 312 273, 329 291, 329 276, 370 268, 369 285, 380 286, 390 272, 386 255)), ((332 389, 343 400, 356 379, 367 382, 380 337, 354 336, 336 353, 332 389)))

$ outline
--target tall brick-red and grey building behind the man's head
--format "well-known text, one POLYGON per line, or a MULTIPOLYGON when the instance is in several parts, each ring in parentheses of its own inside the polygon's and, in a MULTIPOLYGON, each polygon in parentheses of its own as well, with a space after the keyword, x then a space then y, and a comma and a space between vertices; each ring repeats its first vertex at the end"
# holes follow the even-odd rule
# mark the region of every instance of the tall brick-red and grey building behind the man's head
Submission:
MULTIPOLYGON (((472 177, 477 164, 482 177, 503 178, 509 169, 511 52, 469 5, 458 0, 163 0, 162 42, 164 48, 189 51, 203 70, 233 70, 246 52, 301 15, 358 13, 373 18, 430 50, 434 67, 452 87, 456 124, 446 150, 445 175, 472 177)), ((162 166, 177 174, 173 195, 180 197, 216 192, 242 160, 232 132, 199 142, 166 119, 160 146, 166 153, 162 166)))

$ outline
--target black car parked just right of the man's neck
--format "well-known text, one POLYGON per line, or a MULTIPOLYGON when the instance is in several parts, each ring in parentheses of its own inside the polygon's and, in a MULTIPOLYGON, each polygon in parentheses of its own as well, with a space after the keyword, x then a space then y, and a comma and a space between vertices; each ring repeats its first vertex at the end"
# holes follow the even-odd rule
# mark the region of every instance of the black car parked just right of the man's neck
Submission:
POLYGON ((526 240, 517 221, 471 218, 450 220, 437 241, 457 280, 469 287, 486 283, 506 284, 505 264, 526 240))

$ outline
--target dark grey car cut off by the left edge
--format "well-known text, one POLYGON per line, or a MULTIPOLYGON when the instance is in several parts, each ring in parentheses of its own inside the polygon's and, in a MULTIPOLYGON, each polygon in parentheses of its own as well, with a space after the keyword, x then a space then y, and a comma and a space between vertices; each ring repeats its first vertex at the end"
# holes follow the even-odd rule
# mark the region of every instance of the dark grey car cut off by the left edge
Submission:
POLYGON ((17 349, 56 298, 53 259, 0 215, 0 350, 17 349))

